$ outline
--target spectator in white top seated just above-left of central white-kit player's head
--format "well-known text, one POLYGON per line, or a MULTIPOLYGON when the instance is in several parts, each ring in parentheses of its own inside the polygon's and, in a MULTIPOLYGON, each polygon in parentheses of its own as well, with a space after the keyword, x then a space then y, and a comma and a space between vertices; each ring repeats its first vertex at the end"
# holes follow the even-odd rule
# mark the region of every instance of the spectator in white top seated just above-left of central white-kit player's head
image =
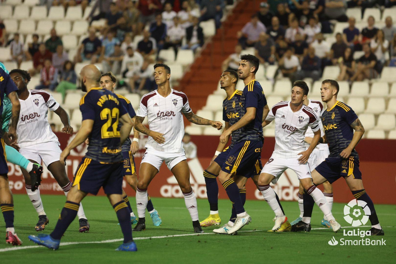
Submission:
POLYGON ((143 57, 139 52, 134 52, 131 47, 127 48, 121 65, 123 78, 129 78, 130 91, 135 91, 135 82, 139 79, 139 71, 143 65, 143 57))

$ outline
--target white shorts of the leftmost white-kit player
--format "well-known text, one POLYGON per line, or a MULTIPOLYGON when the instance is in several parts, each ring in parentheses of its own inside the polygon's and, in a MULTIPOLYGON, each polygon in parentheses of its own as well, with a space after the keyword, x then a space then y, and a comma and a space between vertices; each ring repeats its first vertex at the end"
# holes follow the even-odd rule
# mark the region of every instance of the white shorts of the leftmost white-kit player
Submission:
POLYGON ((28 160, 36 161, 38 164, 43 161, 44 165, 48 167, 49 164, 59 160, 62 150, 59 142, 49 141, 20 148, 19 153, 28 160))

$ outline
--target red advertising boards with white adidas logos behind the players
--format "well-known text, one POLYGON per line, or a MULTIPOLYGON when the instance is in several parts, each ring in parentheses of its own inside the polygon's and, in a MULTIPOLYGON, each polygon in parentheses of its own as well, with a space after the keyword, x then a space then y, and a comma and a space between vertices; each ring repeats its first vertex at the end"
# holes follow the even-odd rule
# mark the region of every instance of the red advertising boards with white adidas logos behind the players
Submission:
MULTIPOLYGON (((56 133, 59 142, 61 143, 61 148, 72 141, 74 135, 67 135, 65 133, 56 133)), ((192 136, 192 142, 194 142, 198 149, 198 158, 187 160, 190 167, 190 182, 194 190, 195 196, 197 198, 206 199, 206 187, 205 180, 203 176, 203 171, 208 167, 215 149, 219 142, 219 137, 217 136, 192 136)), ((139 152, 135 155, 135 165, 137 170, 137 175, 139 177, 139 167, 143 154, 145 153, 145 142, 147 137, 141 137, 139 140, 139 152)), ((362 171, 362 178, 364 179, 364 186, 367 192, 370 194, 371 199, 375 203, 382 204, 396 204, 396 196, 387 195, 384 193, 394 193, 396 190, 396 159, 393 153, 389 155, 384 154, 384 148, 380 146, 394 145, 394 147, 389 147, 389 150, 394 150, 396 148, 396 143, 386 140, 367 140, 362 139, 359 143, 358 152, 360 155, 360 170, 362 171), (375 144, 373 141, 376 141, 375 144), (384 141, 384 142, 381 142, 384 141), (364 155, 364 156, 363 156, 364 155), (386 168, 384 170, 384 168, 386 168), (386 184, 381 184, 386 183, 386 184), (381 188, 378 187, 381 184, 381 188)), ((274 138, 266 138, 263 146, 263 152, 261 154, 263 165, 268 161, 272 150, 274 149, 274 138)), ((81 144, 77 148, 74 148, 70 152, 70 156, 67 159, 67 173, 69 179, 73 179, 73 175, 80 163, 82 157, 86 153, 87 146, 81 144)), ((42 174, 42 182, 40 185, 40 192, 42 194, 63 194, 63 190, 59 187, 55 179, 53 179, 51 173, 48 169, 44 167, 44 173, 42 174)), ((25 182, 22 176, 21 169, 19 166, 8 162, 8 179, 10 182, 11 191, 14 194, 25 194, 25 182)), ((127 182, 124 180, 123 187, 128 196, 135 196, 135 192, 129 188, 127 182)), ((278 194, 279 198, 284 201, 297 201, 297 193, 299 182, 297 175, 294 171, 287 169, 284 174, 280 177, 278 182, 271 186, 274 188, 275 192, 278 194)), ((320 187, 322 188, 322 187, 320 187)), ((246 198, 247 199, 263 199, 263 196, 257 190, 252 180, 248 180, 246 184, 246 198)), ((348 203, 353 199, 349 188, 346 186, 345 180, 339 179, 333 184, 334 189, 334 201, 348 203)), ((168 170, 165 164, 162 164, 160 172, 156 175, 154 180, 152 180, 149 187, 150 196, 152 197, 176 197, 183 198, 183 194, 177 184, 175 177, 168 170)), ((99 195, 104 195, 103 190, 99 192, 99 195)), ((227 199, 227 194, 221 184, 219 183, 219 198, 227 199)))

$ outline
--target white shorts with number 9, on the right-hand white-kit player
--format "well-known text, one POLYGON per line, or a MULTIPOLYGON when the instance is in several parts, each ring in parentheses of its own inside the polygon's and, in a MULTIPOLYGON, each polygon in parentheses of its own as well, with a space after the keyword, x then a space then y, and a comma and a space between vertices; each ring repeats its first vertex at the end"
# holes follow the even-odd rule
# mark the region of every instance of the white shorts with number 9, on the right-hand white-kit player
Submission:
POLYGON ((305 164, 300 164, 299 158, 271 158, 265 163, 261 173, 268 173, 275 176, 272 180, 273 184, 276 184, 280 175, 286 171, 286 169, 292 169, 299 180, 311 177, 311 169, 308 162, 305 164))

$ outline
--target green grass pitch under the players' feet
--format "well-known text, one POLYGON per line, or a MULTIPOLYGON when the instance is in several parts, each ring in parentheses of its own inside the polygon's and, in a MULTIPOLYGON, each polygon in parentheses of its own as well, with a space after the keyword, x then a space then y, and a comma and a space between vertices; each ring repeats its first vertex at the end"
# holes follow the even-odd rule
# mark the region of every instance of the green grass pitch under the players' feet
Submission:
MULTIPOLYGON (((133 210, 135 199, 129 198, 133 210)), ((49 234, 55 227, 65 196, 42 195, 49 225, 43 231, 49 234)), ((312 230, 309 233, 268 233, 272 228, 273 212, 265 201, 247 201, 245 208, 252 222, 237 236, 212 234, 213 227, 204 228, 205 234, 192 234, 190 215, 183 199, 152 198, 154 207, 162 217, 162 225, 155 227, 147 213, 143 232, 134 232, 137 252, 114 251, 122 243, 122 233, 109 201, 104 196, 88 196, 83 201, 84 210, 91 229, 89 233, 78 232, 78 220, 69 226, 57 251, 45 247, 32 247, 27 238, 37 234, 34 226, 37 214, 27 195, 14 195, 15 230, 23 241, 22 249, 10 251, 12 247, 1 243, 1 263, 395 263, 396 258, 396 205, 376 205, 379 220, 385 231, 385 246, 331 246, 327 242, 334 236, 340 241, 343 230, 337 234, 321 228, 322 213, 316 207, 312 215, 312 230), (111 241, 115 239, 116 241, 111 241), (117 239, 119 241, 117 241, 117 239), (105 243, 82 243, 99 242, 105 243), (128 261, 128 262, 127 262, 128 261)), ((282 202, 289 220, 299 215, 297 202, 282 202)), ((343 219, 344 204, 335 203, 333 214, 341 226, 350 226, 343 219)), ((208 216, 209 205, 206 199, 198 199, 200 219, 208 216)), ((230 216, 230 202, 219 201, 219 212, 223 223, 230 216)), ((367 225, 369 222, 367 223, 367 225)), ((352 228, 344 228, 352 230, 352 228)), ((357 228, 354 228, 357 229, 357 228)), ((368 230, 369 227, 360 229, 368 230)), ((4 222, 0 224, 4 232, 4 222)), ((2 233, 4 235, 4 233, 2 233)), ((348 239, 348 237, 346 237, 348 239)), ((4 239, 4 238, 3 238, 4 239)), ((358 239, 358 237, 353 237, 358 239)))

